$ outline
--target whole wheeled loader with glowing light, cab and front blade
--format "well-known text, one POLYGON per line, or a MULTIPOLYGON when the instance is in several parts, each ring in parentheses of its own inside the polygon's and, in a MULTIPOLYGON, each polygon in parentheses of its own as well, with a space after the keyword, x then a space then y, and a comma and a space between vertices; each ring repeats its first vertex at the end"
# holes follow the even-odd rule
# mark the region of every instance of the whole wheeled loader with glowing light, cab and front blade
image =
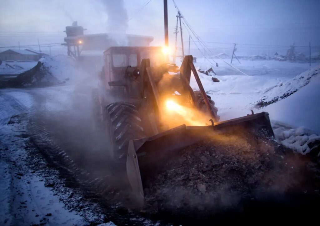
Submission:
POLYGON ((267 112, 219 121, 193 57, 185 56, 180 68, 167 59, 161 47, 110 47, 92 91, 93 125, 106 131, 109 156, 126 172, 138 205, 145 181, 179 158, 179 150, 240 127, 274 136, 267 112))

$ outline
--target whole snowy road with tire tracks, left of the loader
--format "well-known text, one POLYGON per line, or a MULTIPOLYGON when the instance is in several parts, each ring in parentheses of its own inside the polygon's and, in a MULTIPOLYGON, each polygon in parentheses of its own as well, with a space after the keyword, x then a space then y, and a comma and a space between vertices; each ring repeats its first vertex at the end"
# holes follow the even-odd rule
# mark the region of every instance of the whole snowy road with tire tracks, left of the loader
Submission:
POLYGON ((131 213, 119 215, 114 203, 103 203, 88 188, 110 189, 109 166, 102 143, 90 137, 88 95, 75 90, 0 90, 1 224, 150 224, 131 213))

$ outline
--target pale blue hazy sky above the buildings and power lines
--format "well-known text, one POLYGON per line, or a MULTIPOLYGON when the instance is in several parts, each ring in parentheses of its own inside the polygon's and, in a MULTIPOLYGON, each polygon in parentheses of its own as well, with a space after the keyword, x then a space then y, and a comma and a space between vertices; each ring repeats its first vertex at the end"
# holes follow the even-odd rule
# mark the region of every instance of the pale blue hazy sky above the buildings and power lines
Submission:
MULTIPOLYGON (((163 0, 2 0, 0 47, 60 43, 65 26, 77 20, 85 34, 121 27, 127 34, 154 37, 164 44, 163 0), (121 4, 123 2, 123 5, 121 4), (119 5, 120 3, 120 5, 119 5), (142 9, 141 7, 145 4, 142 9), (110 18, 113 18, 110 20, 110 18), (109 19, 109 21, 108 21, 109 19), (117 21, 115 21, 117 20, 117 21), (120 21, 121 23, 118 23, 120 21)), ((319 0, 175 0, 184 18, 211 48, 285 51, 295 43, 320 46, 319 0)), ((177 10, 168 0, 169 44, 174 46, 177 10)), ((182 25, 185 49, 188 31, 182 25)), ((180 35, 180 34, 179 34, 180 35)), ((178 39, 179 40, 179 39, 178 39)), ((178 41, 180 45, 180 41, 178 41)), ((58 44, 55 48, 64 48, 58 44)), ((191 41, 191 49, 195 49, 191 41)), ((300 48, 300 47, 299 47, 300 48)), ((297 48, 299 50, 299 48, 297 48)), ((48 48, 47 48, 48 49, 48 48)), ((302 49, 308 49, 301 47, 302 49)), ((186 51, 186 50, 185 50, 186 51)))

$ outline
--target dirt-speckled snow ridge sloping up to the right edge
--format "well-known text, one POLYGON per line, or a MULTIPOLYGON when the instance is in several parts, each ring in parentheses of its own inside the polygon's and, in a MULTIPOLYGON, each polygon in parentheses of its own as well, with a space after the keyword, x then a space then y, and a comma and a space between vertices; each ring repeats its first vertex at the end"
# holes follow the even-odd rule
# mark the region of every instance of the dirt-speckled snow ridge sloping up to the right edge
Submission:
POLYGON ((274 102, 278 102, 291 94, 297 92, 300 88, 309 84, 312 77, 320 74, 320 65, 316 68, 309 69, 303 72, 293 79, 289 79, 286 82, 279 82, 274 87, 270 87, 264 91, 264 96, 258 101, 259 107, 267 106, 274 102))

